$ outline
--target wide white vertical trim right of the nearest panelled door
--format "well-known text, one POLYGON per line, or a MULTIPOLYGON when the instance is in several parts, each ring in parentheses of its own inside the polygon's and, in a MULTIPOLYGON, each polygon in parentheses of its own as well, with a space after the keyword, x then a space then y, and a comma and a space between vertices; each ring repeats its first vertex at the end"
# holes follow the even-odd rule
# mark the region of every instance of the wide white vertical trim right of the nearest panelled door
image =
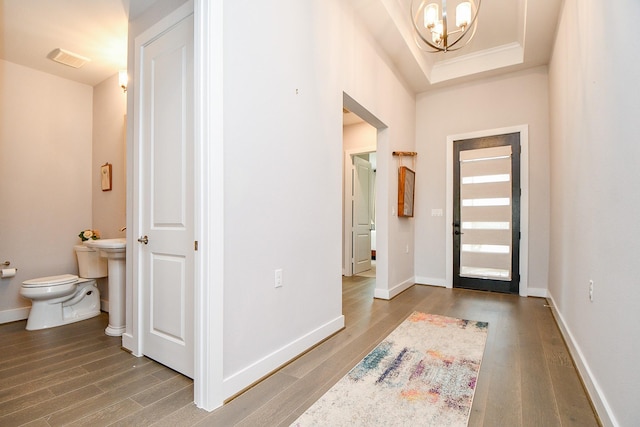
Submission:
POLYGON ((193 399, 207 411, 228 397, 223 378, 223 0, 195 0, 196 259, 193 399))

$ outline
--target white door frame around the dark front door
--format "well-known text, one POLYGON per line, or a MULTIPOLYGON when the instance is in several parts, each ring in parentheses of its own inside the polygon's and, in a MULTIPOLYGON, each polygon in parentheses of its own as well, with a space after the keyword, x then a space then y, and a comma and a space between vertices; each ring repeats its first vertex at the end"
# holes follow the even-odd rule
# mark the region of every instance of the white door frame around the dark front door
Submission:
POLYGON ((446 287, 453 288, 453 145, 461 139, 520 134, 520 296, 529 296, 529 125, 487 129, 447 136, 446 166, 446 287))

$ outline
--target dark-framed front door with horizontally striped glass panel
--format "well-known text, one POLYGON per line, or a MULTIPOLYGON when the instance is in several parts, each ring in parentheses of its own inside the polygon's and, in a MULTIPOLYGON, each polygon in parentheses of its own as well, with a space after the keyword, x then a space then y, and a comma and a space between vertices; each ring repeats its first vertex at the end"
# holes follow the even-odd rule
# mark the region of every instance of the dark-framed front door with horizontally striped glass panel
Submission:
POLYGON ((453 286, 519 292, 520 134, 454 142, 453 286))

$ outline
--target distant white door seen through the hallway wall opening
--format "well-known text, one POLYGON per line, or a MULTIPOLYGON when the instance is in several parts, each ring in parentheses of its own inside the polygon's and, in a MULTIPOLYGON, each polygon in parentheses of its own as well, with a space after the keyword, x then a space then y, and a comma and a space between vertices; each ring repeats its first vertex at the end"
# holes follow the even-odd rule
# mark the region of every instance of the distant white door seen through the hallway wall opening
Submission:
POLYGON ((353 274, 371 269, 371 163, 353 158, 353 274))

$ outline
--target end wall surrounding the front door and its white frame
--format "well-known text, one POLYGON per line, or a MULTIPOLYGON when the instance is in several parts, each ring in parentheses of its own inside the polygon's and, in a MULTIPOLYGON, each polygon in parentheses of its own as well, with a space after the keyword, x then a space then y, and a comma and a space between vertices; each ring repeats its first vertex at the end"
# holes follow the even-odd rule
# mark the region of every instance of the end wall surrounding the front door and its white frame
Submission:
POLYGON ((416 277, 446 282, 446 141, 448 135, 529 125, 529 288, 547 289, 549 116, 546 67, 447 87, 417 100, 416 277), (431 216, 442 209, 443 216, 431 216))

